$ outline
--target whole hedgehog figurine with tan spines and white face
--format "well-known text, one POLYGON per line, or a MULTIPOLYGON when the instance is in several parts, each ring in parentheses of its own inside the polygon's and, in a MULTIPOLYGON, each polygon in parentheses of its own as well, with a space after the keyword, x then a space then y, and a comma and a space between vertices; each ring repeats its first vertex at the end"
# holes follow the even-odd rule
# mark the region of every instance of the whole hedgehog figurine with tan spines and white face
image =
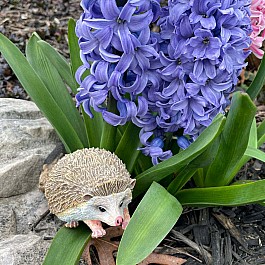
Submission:
POLYGON ((83 221, 97 238, 106 234, 101 222, 125 229, 130 220, 128 204, 135 179, 130 178, 123 162, 105 149, 67 154, 41 181, 50 211, 65 221, 66 227, 83 221))

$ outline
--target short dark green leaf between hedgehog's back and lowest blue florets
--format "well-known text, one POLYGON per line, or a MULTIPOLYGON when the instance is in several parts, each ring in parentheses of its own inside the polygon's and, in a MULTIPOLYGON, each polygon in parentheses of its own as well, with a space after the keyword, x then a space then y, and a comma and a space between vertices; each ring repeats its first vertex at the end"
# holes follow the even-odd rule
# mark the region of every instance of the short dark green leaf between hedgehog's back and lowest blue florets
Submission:
POLYGON ((130 122, 115 150, 115 154, 126 164, 127 170, 131 173, 140 151, 137 147, 140 128, 130 122))

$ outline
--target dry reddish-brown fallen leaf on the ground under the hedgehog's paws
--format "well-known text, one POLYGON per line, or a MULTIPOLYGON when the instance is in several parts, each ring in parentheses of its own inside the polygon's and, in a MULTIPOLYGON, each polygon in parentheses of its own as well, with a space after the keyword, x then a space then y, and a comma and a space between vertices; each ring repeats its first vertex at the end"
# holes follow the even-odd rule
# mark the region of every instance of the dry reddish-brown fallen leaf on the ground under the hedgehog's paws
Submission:
MULTIPOLYGON (((88 265, 93 265, 89 251, 91 246, 94 246, 98 252, 100 265, 115 265, 113 253, 118 251, 118 246, 120 242, 114 240, 112 241, 112 239, 121 236, 123 230, 120 226, 117 226, 106 229, 106 232, 106 236, 102 238, 93 238, 86 246, 82 257, 88 265)), ((181 265, 185 262, 185 259, 177 258, 174 256, 151 253, 145 260, 139 263, 139 265, 181 265)))

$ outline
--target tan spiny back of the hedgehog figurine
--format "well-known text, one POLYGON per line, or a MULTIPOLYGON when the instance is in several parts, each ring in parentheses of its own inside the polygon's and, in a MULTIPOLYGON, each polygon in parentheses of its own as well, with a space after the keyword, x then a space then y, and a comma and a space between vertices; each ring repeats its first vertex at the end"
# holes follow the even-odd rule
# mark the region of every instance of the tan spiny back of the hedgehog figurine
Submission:
POLYGON ((85 202, 84 195, 107 196, 130 187, 123 162, 109 151, 82 149, 65 155, 45 183, 50 211, 60 213, 85 202))

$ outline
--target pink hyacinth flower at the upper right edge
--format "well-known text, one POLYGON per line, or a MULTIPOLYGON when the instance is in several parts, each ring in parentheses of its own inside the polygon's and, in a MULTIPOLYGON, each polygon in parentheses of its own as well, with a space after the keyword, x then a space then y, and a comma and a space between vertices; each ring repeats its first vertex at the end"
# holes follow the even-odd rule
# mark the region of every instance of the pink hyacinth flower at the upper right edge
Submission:
POLYGON ((252 0, 250 11, 251 26, 253 29, 250 35, 252 40, 250 50, 257 58, 262 59, 264 51, 261 47, 265 39, 265 0, 252 0))

